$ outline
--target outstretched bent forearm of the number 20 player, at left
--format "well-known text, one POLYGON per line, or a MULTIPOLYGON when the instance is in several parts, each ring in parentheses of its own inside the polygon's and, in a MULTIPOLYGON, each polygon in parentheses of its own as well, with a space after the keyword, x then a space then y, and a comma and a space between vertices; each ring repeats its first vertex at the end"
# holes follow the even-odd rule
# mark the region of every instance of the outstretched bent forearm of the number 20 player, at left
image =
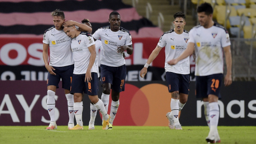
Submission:
POLYGON ((181 53, 181 55, 177 59, 172 59, 168 61, 167 63, 169 65, 175 65, 180 60, 183 60, 187 58, 189 55, 191 55, 194 51, 195 44, 194 43, 188 43, 187 49, 181 53))

